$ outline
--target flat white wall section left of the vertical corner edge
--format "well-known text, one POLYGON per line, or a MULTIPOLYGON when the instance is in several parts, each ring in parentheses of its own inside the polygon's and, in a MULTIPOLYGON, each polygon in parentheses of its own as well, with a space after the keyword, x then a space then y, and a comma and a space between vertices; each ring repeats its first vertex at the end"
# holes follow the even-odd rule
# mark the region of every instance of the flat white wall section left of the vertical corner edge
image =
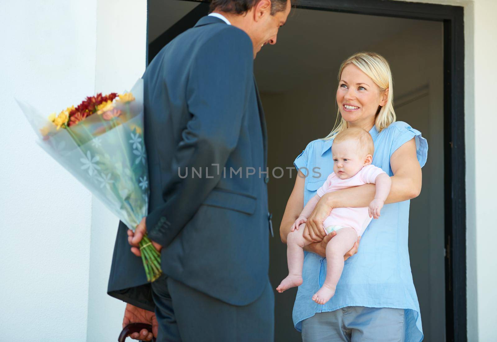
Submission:
POLYGON ((14 101, 47 115, 93 94, 96 0, 0 1, 1 341, 86 341, 91 195, 14 101))

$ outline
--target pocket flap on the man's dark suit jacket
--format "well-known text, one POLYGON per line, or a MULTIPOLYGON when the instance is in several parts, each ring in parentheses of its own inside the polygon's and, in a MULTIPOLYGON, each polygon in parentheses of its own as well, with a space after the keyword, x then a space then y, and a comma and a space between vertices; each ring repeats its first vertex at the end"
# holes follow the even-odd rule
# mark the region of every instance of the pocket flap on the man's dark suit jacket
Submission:
POLYGON ((213 189, 202 204, 251 215, 255 212, 256 198, 242 193, 213 189))

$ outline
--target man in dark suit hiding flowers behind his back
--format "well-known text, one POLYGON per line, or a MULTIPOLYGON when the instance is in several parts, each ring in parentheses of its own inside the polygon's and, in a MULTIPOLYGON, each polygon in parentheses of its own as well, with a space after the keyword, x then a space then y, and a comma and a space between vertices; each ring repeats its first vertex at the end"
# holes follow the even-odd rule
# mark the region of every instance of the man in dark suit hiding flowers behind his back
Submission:
POLYGON ((123 326, 153 324, 158 341, 273 340, 267 139, 253 59, 276 43, 290 8, 213 0, 212 13, 145 71, 149 214, 135 233, 120 222, 108 285, 128 303, 123 326), (152 284, 137 257, 145 233, 164 272, 152 284))

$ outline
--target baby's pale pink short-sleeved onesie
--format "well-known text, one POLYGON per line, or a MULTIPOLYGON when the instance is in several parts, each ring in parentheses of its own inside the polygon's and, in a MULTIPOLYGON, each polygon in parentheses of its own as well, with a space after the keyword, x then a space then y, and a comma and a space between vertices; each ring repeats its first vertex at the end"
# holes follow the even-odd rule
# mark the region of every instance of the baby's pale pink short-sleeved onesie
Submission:
MULTIPOLYGON (((326 179, 323 186, 318 189, 318 196, 322 197, 327 192, 345 189, 351 186, 357 186, 367 183, 375 183, 376 176, 380 173, 386 173, 374 165, 367 165, 348 179, 340 179, 335 172, 332 172, 326 179)), ((352 227, 358 236, 364 233, 364 230, 373 218, 369 217, 368 207, 361 208, 334 208, 323 222, 326 229, 330 226, 352 227)), ((330 233, 330 232, 328 232, 330 233)))

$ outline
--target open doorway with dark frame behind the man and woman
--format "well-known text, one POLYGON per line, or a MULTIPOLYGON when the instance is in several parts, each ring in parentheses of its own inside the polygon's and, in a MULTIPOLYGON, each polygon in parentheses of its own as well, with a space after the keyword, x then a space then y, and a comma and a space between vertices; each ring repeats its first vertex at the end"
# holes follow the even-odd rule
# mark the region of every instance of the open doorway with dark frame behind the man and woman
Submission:
MULTIPOLYGON (((462 8, 340 2, 300 0, 277 45, 264 47, 257 56, 254 73, 267 122, 268 167, 291 167, 309 141, 331 131, 342 60, 357 51, 382 54, 393 73, 397 120, 421 131, 429 145, 422 191, 411 201, 409 235, 425 341, 464 341, 462 8), (454 141, 462 143, 455 146, 454 141)), ((207 9, 199 1, 149 0, 148 60, 207 9)), ((294 180, 285 173, 268 184, 276 231, 294 180)), ((286 246, 277 232, 270 245, 270 279, 277 284, 287 272, 286 246)), ((291 319, 295 293, 275 295, 275 341, 301 341, 291 319)))

